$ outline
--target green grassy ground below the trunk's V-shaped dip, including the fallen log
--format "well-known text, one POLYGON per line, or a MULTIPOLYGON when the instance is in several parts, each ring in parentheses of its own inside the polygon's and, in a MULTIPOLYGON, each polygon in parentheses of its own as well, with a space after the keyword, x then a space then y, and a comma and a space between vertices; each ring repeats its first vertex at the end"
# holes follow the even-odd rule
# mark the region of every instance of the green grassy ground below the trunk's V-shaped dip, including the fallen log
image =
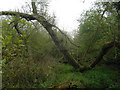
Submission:
POLYGON ((120 67, 99 65, 80 73, 69 65, 57 66, 54 78, 45 81, 41 88, 120 88, 120 67))

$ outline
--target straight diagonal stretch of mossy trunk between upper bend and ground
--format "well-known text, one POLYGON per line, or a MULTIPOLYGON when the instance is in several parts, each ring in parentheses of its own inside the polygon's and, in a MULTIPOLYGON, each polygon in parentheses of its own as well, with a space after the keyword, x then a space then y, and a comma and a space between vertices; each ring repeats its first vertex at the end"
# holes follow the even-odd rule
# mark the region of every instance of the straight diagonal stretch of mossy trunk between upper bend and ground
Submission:
MULTIPOLYGON (((39 22, 41 22, 41 18, 36 18, 39 22)), ((57 48, 60 50, 60 52, 64 55, 66 60, 68 60, 68 63, 72 65, 75 68, 79 68, 80 71, 83 70, 83 66, 80 65, 68 52, 68 50, 63 46, 63 43, 60 42, 59 38, 57 37, 54 30, 52 30, 52 25, 48 23, 47 21, 41 22, 43 27, 47 30, 49 35, 51 36, 52 40, 54 41, 57 48)))

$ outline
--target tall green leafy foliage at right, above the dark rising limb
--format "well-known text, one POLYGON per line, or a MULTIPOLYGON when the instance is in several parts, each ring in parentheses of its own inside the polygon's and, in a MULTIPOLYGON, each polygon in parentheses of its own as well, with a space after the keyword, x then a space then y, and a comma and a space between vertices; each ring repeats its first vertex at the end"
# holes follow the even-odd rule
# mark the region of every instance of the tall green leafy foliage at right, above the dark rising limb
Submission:
MULTIPOLYGON (((112 4, 96 3, 94 8, 86 11, 79 20, 80 24, 74 42, 81 46, 78 48, 78 52, 75 52, 79 55, 78 57, 81 57, 81 62, 91 63, 99 55, 104 44, 120 41, 118 14, 112 4)), ((114 57, 119 58, 118 51, 112 50, 112 53, 114 53, 114 57)), ((112 58, 110 55, 108 57, 112 58)))

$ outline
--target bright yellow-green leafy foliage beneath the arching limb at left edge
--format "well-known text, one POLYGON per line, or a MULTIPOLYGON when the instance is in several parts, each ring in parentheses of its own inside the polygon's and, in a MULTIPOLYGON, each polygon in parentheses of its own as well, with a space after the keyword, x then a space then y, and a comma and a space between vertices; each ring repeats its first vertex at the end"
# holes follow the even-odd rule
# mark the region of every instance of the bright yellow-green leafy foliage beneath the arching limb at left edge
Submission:
MULTIPOLYGON (((3 59, 6 59, 6 62, 8 63, 11 60, 14 60, 15 57, 24 57, 26 56, 26 47, 27 47, 27 41, 24 37, 20 37, 20 35, 17 33, 17 30, 13 27, 13 23, 10 24, 10 22, 14 21, 14 17, 10 17, 10 19, 2 20, 2 52, 3 52, 3 59)), ((25 21, 25 20, 21 20, 25 21)), ((25 22, 21 22, 19 26, 23 26, 26 24, 25 22)), ((27 25, 26 25, 27 26, 27 25)), ((29 25, 30 27, 30 25, 29 25)), ((28 27, 28 29, 29 29, 28 27)), ((24 28, 25 29, 25 28, 24 28)), ((26 31, 28 30, 26 28, 26 31)), ((20 32, 24 33, 23 35, 29 35, 24 32, 24 30, 21 30, 19 28, 20 32)))

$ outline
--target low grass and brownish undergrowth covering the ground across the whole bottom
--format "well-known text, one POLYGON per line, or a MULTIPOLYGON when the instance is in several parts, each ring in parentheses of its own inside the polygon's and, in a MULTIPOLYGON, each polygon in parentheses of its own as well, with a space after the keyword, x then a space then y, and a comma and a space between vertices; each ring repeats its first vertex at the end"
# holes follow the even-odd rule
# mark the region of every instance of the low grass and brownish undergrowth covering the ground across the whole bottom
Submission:
POLYGON ((4 87, 50 88, 69 82, 77 83, 76 88, 120 88, 119 67, 101 65, 80 73, 67 64, 43 69, 38 63, 18 60, 3 68, 4 87))

